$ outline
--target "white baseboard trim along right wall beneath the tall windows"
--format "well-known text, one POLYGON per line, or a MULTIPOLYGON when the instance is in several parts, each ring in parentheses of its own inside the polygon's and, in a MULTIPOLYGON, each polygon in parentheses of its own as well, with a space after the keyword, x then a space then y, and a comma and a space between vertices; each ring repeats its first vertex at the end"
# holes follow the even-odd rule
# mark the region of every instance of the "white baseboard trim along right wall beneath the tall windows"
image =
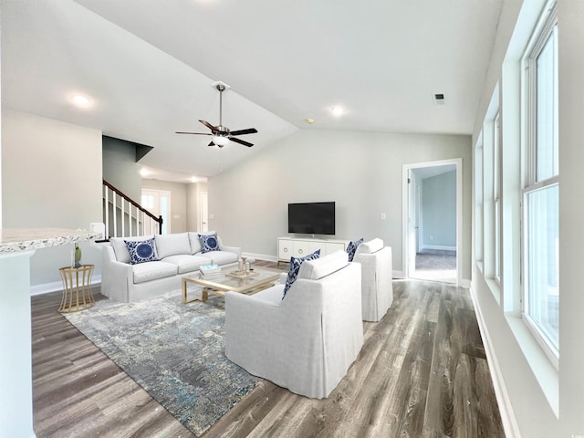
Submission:
POLYGON ((491 381, 493 381, 493 389, 495 391, 496 401, 499 405, 499 412, 501 414, 501 422, 503 423, 505 435, 507 438, 521 438, 519 426, 517 425, 515 413, 513 412, 513 405, 511 404, 509 394, 506 391, 503 373, 501 372, 499 362, 496 360, 495 349, 493 349, 493 343, 491 342, 491 338, 489 336, 489 330, 486 328, 483 313, 481 312, 481 308, 478 306, 476 297, 474 296, 474 290, 472 288, 470 289, 470 294, 471 299, 473 300, 476 322, 478 323, 478 329, 481 332, 481 338, 483 339, 483 345, 485 347, 486 360, 488 361, 489 369, 491 370, 491 381))

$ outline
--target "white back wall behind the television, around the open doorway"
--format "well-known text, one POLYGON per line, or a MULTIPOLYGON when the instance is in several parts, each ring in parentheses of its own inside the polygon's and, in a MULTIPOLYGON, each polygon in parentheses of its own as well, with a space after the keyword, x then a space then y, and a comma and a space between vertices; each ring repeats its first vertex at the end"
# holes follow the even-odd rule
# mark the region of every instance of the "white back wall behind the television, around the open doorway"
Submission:
MULTIPOLYGON (((227 152, 227 151, 226 151, 227 152)), ((287 203, 335 201, 339 239, 381 237, 401 271, 401 166, 463 159, 463 278, 470 279, 470 137, 299 130, 209 180, 210 228, 227 245, 276 257, 287 203), (381 213, 387 219, 381 220, 381 213)))

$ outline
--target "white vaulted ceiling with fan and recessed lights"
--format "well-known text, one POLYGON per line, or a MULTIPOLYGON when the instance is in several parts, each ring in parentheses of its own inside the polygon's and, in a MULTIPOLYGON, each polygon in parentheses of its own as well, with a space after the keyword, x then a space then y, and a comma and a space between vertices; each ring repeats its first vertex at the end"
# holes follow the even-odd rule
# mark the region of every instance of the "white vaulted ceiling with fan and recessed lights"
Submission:
POLYGON ((153 146, 151 177, 183 182, 298 129, 470 134, 502 1, 2 0, 2 104, 153 146), (216 80, 253 148, 174 134, 219 123, 216 80))

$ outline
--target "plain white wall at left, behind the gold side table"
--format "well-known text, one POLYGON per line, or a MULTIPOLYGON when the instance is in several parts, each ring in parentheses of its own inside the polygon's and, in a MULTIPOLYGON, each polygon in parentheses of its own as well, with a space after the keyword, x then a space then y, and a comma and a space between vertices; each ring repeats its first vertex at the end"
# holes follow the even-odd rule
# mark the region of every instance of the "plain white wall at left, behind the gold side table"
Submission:
MULTIPOLYGON (((2 222, 5 228, 82 228, 101 219, 101 131, 15 110, 2 111, 2 222)), ((101 255, 82 243, 82 262, 101 255)), ((57 282, 71 247, 43 248, 31 259, 31 285, 57 282)))

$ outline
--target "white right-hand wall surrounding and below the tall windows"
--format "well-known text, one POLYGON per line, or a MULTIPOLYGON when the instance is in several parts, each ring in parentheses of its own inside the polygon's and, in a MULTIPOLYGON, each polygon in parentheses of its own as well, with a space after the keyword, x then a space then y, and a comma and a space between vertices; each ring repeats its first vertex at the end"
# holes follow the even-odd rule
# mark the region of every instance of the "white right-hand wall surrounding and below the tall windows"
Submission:
MULTIPOLYGON (((517 40, 509 46, 514 29, 522 29, 524 19, 533 16, 542 1, 506 2, 498 27, 498 38, 487 75, 485 90, 477 115, 473 144, 485 120, 488 102, 500 81, 504 93, 506 82, 516 80, 502 76, 514 68, 504 57, 513 55, 517 40), (523 5, 521 15, 518 6, 523 5), (516 18, 519 16, 516 26, 516 18), (510 79, 510 80, 509 80, 510 79)), ((490 349, 490 368, 500 385, 502 406, 514 414, 520 436, 526 438, 572 438, 584 436, 584 349, 582 349, 582 309, 584 294, 581 278, 581 234, 584 217, 582 196, 582 114, 584 114, 584 2, 558 0, 559 53, 559 370, 556 371, 538 349, 521 318, 504 310, 491 291, 490 280, 482 275, 480 264, 474 266, 472 293, 482 321, 485 345, 490 349)), ((502 111, 516 110, 516 96, 503 94, 502 111), (506 102, 511 104, 506 106, 506 102)), ((512 117, 510 119, 513 119, 512 117)), ((503 130, 506 130, 506 120, 503 130)), ((504 132, 503 147, 506 146, 504 132)), ((518 139, 516 139, 518 140, 518 139)), ((515 145, 516 146, 516 145, 515 145)), ((506 165, 504 163, 504 169, 506 165)), ((504 175, 505 178, 506 175, 504 175)), ((505 196, 505 193, 503 194, 505 196)), ((510 238, 511 236, 505 236, 510 238)), ((504 265, 504 269, 506 266, 504 265)), ((508 284, 508 283, 507 283, 508 284)), ((520 287, 504 290, 506 297, 520 296, 520 287)), ((506 298, 507 299, 507 298, 506 298)), ((496 386, 496 385, 495 385, 496 386)), ((515 435, 509 435, 515 436, 515 435)))

